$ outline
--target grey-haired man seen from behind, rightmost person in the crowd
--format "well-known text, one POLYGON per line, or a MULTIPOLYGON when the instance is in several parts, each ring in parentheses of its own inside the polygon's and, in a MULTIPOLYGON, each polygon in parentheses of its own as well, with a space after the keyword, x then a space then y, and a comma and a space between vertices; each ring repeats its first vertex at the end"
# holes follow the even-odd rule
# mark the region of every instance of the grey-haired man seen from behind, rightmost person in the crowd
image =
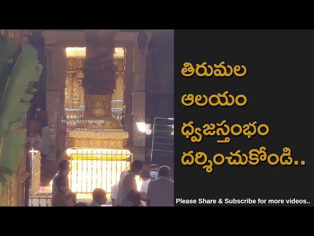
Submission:
POLYGON ((171 170, 168 166, 160 166, 159 178, 148 184, 146 194, 149 207, 173 207, 174 206, 174 181, 171 179, 171 170))

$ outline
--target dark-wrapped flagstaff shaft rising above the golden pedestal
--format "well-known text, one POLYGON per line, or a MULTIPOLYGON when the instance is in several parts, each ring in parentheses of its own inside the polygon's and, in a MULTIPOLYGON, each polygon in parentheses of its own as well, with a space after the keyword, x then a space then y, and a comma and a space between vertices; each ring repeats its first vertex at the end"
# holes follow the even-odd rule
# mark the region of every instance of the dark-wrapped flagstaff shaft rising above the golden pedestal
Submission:
POLYGON ((104 120, 104 129, 120 129, 112 117, 111 97, 116 88, 114 65, 115 30, 86 30, 86 59, 82 82, 85 93, 85 118, 104 120))

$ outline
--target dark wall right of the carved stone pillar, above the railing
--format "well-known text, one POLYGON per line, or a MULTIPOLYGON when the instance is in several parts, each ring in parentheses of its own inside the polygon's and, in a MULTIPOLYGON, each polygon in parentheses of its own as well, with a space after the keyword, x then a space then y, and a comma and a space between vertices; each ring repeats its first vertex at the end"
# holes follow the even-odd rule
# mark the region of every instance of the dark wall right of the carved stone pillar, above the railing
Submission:
MULTIPOLYGON (((154 30, 148 44, 145 78, 145 119, 174 117, 174 31, 154 30)), ((150 161, 152 135, 146 134, 145 161, 150 161)))

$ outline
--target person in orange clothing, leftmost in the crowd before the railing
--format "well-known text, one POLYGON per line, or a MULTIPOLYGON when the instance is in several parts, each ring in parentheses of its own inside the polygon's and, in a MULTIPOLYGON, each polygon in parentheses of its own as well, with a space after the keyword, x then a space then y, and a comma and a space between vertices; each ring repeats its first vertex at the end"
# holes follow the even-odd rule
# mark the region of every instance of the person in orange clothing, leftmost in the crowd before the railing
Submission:
POLYGON ((60 161, 59 172, 52 181, 52 207, 71 207, 76 203, 76 194, 69 187, 70 162, 60 161))

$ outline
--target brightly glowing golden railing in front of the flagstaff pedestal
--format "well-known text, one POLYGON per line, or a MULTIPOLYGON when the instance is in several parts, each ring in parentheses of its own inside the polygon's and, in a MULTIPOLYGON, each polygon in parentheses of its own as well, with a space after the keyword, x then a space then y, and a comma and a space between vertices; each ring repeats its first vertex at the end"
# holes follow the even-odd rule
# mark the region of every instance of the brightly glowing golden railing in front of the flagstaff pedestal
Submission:
POLYGON ((133 160, 130 151, 114 149, 78 149, 70 156, 70 188, 78 194, 91 194, 95 188, 110 193, 133 160))

